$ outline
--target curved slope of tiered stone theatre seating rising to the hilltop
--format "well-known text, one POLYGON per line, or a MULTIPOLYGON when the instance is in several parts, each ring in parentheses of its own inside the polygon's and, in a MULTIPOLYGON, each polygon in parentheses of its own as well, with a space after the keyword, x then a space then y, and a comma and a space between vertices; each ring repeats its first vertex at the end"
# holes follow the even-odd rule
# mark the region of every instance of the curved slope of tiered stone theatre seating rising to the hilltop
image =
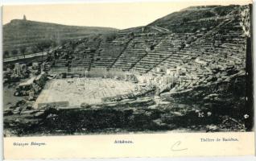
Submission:
MULTIPOLYGON (((177 66, 192 72, 195 70, 192 64, 205 72, 232 65, 244 70, 246 37, 250 37, 248 17, 249 6, 194 6, 146 27, 118 31, 110 38, 95 35, 74 40, 76 49, 69 53, 71 68, 84 61, 85 68, 119 68, 155 74, 161 73, 156 72, 157 68, 165 72, 177 66), (84 48, 79 48, 81 44, 84 48), (77 60, 81 58, 79 55, 84 57, 77 60), (205 64, 213 64, 212 69, 205 64)), ((67 43, 62 50, 69 46, 67 43)))

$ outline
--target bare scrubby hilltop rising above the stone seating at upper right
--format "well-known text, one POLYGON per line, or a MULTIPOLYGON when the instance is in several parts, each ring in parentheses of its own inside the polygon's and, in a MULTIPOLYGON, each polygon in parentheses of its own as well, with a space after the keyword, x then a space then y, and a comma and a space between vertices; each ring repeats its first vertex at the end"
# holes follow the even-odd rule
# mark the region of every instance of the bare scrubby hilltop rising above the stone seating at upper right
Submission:
POLYGON ((147 27, 163 27, 171 32, 195 32, 216 27, 223 19, 238 14, 241 6, 190 6, 155 20, 147 27), (203 22, 203 23, 200 23, 203 22))

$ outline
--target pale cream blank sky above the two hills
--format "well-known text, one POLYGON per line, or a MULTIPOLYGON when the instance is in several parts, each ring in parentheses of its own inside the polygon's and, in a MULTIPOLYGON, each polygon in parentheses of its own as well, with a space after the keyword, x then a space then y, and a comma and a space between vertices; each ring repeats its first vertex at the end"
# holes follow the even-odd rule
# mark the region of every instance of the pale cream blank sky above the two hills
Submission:
MULTIPOLYGON (((111 2, 111 3, 76 3, 76 4, 48 4, 48 5, 16 5, 3 6, 2 23, 9 23, 11 19, 60 23, 73 26, 114 27, 125 29, 144 26, 162 18, 172 12, 182 10, 188 6, 234 4, 237 1, 195 1, 195 2, 111 2), (206 3, 207 2, 207 3, 206 3)), ((240 4, 248 3, 239 0, 240 4)))

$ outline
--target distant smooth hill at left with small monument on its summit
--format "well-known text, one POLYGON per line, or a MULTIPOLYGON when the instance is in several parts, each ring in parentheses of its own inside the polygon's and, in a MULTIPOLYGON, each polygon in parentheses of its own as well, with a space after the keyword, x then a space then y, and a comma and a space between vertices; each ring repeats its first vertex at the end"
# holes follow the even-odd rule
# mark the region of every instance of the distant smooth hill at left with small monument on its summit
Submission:
MULTIPOLYGON (((3 25, 3 51, 6 57, 36 51, 40 46, 60 45, 67 39, 79 39, 86 35, 117 31, 108 27, 76 27, 56 23, 41 23, 26 19, 13 19, 3 25), (49 44, 50 43, 50 44, 49 44), (25 48, 25 49, 24 49, 25 48), (14 52, 16 50, 16 52, 14 52)), ((40 50, 40 48, 39 48, 40 50)), ((41 49, 42 50, 42 49, 41 49)))

